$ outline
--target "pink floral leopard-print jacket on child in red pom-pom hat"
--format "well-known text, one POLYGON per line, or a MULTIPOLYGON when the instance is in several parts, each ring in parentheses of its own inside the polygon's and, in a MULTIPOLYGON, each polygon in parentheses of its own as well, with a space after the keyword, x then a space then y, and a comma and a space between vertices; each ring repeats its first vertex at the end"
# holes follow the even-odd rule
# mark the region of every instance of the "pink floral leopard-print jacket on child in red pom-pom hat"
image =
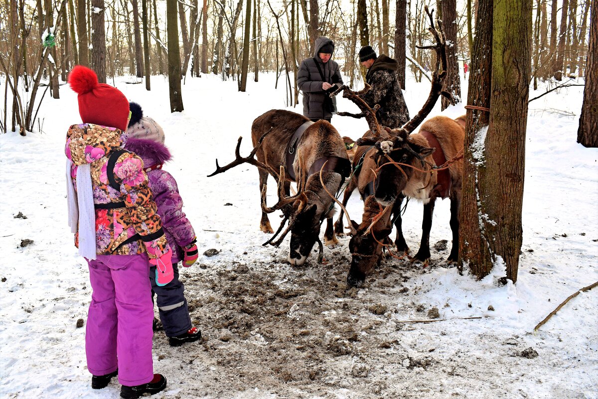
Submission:
MULTIPOLYGON (((77 167, 89 163, 96 205, 98 255, 147 252, 149 258, 160 257, 169 251, 169 246, 141 158, 124 152, 116 159, 112 173, 120 190, 115 190, 108 179, 109 158, 114 151, 121 150, 126 141, 127 133, 115 127, 91 123, 72 125, 66 133, 65 145, 66 157, 73 162, 72 181, 77 190, 77 167)), ((75 233, 75 245, 78 246, 78 233, 75 233)))

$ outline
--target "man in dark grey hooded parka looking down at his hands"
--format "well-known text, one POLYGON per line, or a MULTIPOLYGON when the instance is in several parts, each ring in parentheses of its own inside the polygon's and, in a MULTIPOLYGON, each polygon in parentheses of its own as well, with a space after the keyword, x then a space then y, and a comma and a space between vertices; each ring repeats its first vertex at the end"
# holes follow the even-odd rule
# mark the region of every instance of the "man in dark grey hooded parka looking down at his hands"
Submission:
POLYGON ((332 61, 334 42, 321 36, 316 39, 313 58, 304 59, 297 72, 297 86, 303 92, 303 115, 312 121, 330 121, 337 111, 336 98, 330 98, 343 84, 338 64, 332 61))

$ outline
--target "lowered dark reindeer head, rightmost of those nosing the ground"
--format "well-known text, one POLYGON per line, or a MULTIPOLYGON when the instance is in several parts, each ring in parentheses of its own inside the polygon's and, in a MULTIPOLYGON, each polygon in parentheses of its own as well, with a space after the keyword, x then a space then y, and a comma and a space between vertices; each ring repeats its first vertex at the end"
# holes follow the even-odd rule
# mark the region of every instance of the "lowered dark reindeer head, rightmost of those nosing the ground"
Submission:
POLYGON ((351 265, 347 275, 347 285, 361 287, 365 277, 380 264, 383 243, 388 240, 392 230, 392 226, 388 226, 390 208, 392 206, 383 209, 374 196, 369 196, 365 199, 361 224, 351 221, 356 232, 349 241, 351 265))

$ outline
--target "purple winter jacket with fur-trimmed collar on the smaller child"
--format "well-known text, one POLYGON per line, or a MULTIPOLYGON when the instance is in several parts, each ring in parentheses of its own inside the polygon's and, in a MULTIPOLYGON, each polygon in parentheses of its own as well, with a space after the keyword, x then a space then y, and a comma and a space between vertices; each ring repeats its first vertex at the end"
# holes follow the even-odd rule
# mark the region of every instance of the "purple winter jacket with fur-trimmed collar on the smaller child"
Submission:
POLYGON ((184 257, 181 247, 187 246, 195 238, 195 232, 183 212, 183 200, 176 186, 175 178, 162 169, 149 170, 154 165, 163 164, 172 157, 164 144, 146 139, 127 139, 124 149, 137 154, 144 162, 148 183, 154 194, 157 214, 162 219, 166 239, 172 248, 172 263, 178 263, 184 257))

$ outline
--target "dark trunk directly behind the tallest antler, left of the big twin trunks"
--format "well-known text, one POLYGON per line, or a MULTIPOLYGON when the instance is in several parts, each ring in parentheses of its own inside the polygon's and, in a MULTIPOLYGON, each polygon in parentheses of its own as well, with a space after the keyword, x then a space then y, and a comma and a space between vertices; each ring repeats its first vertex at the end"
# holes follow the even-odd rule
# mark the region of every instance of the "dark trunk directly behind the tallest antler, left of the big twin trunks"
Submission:
MULTIPOLYGON (((459 75, 459 61, 457 60, 457 1, 443 0, 443 29, 447 43, 447 77, 444 80, 444 90, 453 95, 454 101, 461 102, 461 77, 459 75)), ((442 97, 442 109, 446 109, 450 101, 442 97)))

